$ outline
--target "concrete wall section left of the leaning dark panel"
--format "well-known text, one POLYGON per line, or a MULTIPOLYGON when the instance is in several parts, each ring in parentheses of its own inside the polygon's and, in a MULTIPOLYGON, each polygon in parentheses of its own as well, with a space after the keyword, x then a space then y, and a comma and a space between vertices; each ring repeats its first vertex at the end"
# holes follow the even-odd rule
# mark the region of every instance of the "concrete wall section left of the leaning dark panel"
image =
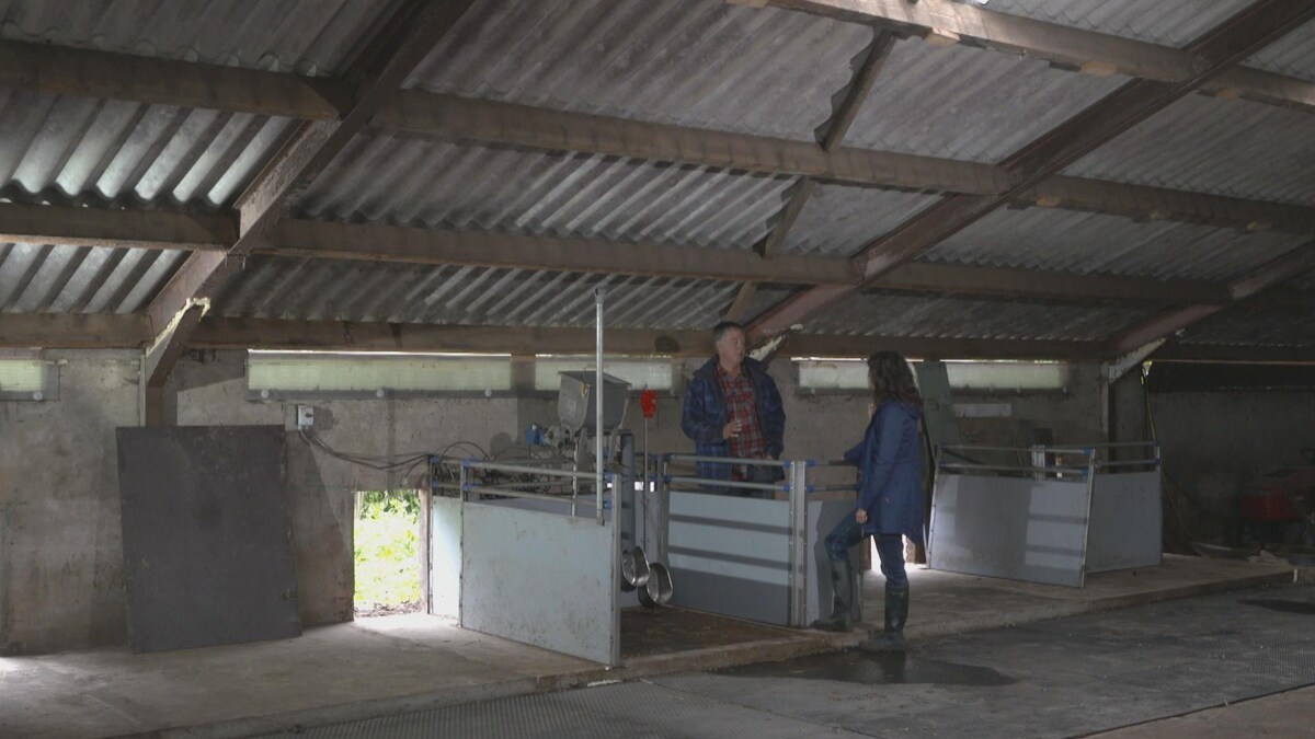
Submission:
POLYGON ((59 400, 0 402, 0 652, 126 642, 114 429, 135 352, 47 352, 59 400))

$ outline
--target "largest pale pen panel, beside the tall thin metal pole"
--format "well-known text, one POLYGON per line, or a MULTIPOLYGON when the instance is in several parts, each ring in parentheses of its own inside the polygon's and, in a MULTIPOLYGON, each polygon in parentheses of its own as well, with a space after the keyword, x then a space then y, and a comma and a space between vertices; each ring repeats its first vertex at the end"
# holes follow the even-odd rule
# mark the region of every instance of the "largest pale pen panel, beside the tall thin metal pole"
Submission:
POLYGON ((611 525, 467 502, 462 555, 462 626, 611 664, 611 525))

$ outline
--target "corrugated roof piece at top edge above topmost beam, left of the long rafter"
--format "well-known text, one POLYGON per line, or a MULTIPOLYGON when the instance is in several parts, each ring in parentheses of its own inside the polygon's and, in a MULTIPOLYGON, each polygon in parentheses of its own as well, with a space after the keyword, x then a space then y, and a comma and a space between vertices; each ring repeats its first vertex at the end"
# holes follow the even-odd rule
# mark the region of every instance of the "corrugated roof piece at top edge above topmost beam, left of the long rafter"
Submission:
POLYGON ((988 9, 1178 49, 1251 0, 990 0, 988 9))

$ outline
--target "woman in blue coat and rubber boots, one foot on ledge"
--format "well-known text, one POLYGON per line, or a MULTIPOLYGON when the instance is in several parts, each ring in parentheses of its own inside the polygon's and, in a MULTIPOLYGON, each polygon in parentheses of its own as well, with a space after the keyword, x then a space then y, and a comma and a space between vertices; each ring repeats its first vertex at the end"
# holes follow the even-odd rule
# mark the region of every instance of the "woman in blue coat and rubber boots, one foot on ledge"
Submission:
POLYGON ((852 631, 857 621, 859 588, 849 548, 868 534, 877 538, 881 573, 886 577, 885 630, 860 644, 868 651, 903 648, 909 615, 909 577, 905 573, 903 536, 922 542, 922 443, 918 422, 922 397, 905 358, 878 351, 868 358, 871 421, 859 446, 844 454, 859 467, 859 506, 826 538, 831 560, 835 606, 828 618, 813 622, 825 631, 852 631))

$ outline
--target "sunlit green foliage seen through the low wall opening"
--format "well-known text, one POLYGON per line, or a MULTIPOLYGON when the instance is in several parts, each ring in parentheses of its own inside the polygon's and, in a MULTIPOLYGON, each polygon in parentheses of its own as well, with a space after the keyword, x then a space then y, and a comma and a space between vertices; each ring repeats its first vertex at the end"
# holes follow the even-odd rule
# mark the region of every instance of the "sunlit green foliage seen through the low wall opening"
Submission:
POLYGON ((419 604, 419 496, 376 490, 356 498, 356 611, 404 611, 419 604))

